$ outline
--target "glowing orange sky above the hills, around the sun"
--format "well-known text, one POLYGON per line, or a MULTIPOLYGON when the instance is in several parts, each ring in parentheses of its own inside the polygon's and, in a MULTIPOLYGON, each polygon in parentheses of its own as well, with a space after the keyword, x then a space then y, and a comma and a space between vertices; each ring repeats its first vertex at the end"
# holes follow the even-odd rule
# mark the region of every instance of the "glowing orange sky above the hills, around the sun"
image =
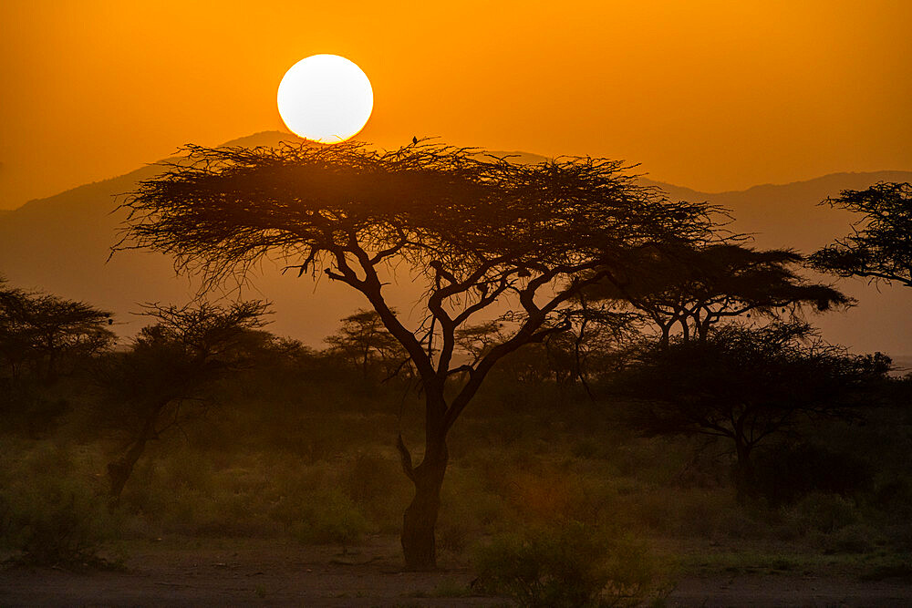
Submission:
POLYGON ((642 163, 741 189, 912 170, 912 2, 0 3, 0 209, 281 126, 285 69, 358 63, 358 139, 642 163))

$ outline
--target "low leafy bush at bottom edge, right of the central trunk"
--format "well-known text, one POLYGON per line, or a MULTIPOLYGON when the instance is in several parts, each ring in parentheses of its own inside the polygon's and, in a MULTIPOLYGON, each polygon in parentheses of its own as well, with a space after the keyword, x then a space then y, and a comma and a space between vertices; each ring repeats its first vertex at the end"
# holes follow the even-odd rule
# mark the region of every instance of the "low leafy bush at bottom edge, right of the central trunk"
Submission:
POLYGON ((642 603, 655 578, 642 545, 578 521, 498 536, 475 566, 482 589, 530 607, 642 603))

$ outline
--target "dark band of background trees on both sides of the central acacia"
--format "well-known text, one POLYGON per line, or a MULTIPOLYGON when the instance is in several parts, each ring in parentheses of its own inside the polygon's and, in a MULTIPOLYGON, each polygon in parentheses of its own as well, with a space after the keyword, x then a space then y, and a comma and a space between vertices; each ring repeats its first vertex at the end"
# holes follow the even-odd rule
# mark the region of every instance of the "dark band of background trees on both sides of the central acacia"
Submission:
MULTIPOLYGON (((798 437, 808 420, 864 420, 906 397, 907 381, 887 375, 888 357, 828 345, 803 320, 806 304, 823 310, 848 300, 800 279, 799 256, 741 246, 700 256, 720 272, 707 279, 666 268, 664 281, 654 276, 626 294, 588 290, 563 331, 503 358, 488 392, 551 386, 553 407, 582 399, 643 436, 721 440, 734 456, 740 500, 758 495, 753 454, 762 444, 798 437)), ((220 400, 238 400, 226 397, 226 382, 269 392, 266 376, 303 390, 335 382, 364 395, 420 397, 408 353, 374 311, 340 319, 314 349, 266 331, 270 311, 259 301, 149 304, 139 312, 148 325, 121 343, 112 315, 89 304, 5 282, 0 303, 5 432, 41 437, 77 404, 86 408, 99 438, 117 438, 106 471, 111 504, 151 441, 205 425, 220 400)), ((456 332, 467 370, 503 342, 509 323, 456 332)))

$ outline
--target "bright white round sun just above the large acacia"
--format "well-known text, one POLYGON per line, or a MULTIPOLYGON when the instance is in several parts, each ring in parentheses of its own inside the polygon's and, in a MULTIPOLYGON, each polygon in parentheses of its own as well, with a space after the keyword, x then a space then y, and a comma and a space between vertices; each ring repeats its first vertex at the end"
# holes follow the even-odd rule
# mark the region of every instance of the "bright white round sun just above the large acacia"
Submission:
POLYGON ((356 135, 370 118, 374 91, 361 68, 345 57, 301 59, 279 83, 279 115, 305 139, 338 143, 356 135))

